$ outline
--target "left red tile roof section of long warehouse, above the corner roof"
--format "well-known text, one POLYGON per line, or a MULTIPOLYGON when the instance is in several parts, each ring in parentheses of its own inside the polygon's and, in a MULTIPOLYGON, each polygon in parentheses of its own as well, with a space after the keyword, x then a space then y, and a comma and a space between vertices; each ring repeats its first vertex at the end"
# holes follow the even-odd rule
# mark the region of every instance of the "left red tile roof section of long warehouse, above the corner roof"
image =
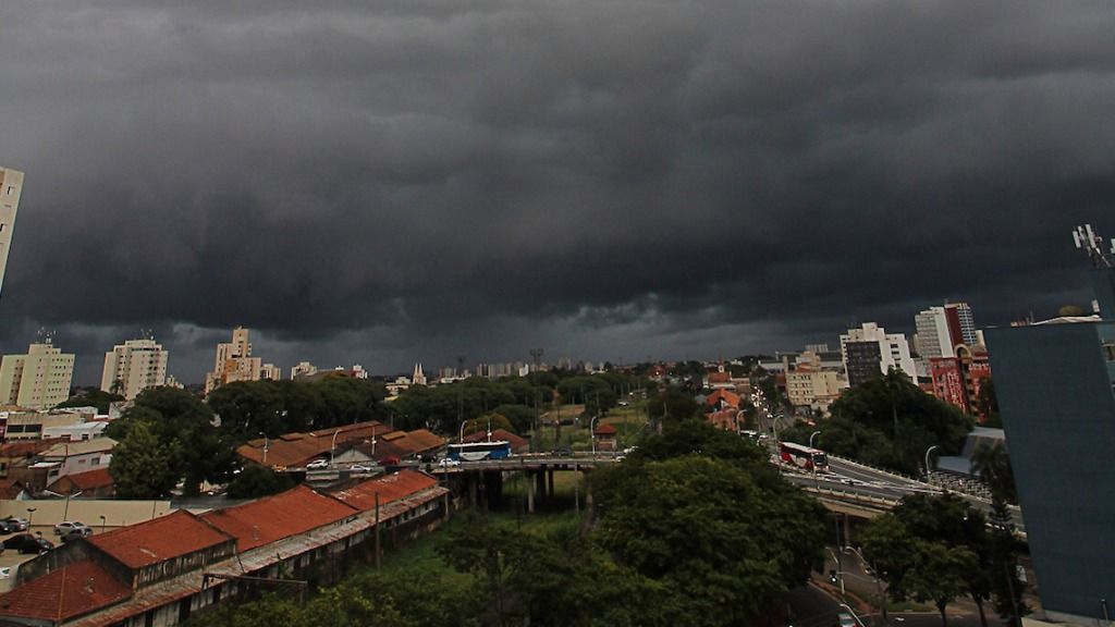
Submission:
POLYGON ((229 540, 185 510, 87 538, 128 568, 143 568, 229 540))

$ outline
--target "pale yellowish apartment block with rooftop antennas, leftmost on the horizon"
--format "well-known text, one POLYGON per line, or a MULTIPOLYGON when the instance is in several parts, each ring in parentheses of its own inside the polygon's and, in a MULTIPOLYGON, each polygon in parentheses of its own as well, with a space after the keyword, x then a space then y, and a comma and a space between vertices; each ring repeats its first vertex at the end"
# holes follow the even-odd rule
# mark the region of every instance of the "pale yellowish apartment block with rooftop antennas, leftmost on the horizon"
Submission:
POLYGON ((48 336, 26 355, 4 355, 0 361, 0 405, 30 409, 54 407, 69 398, 74 355, 62 353, 48 336))

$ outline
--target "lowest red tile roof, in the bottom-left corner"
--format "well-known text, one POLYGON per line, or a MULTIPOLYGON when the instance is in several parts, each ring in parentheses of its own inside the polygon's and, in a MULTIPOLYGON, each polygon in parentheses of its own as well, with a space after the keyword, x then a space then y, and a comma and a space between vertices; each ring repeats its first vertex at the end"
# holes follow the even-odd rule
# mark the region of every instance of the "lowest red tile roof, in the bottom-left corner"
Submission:
POLYGON ((0 596, 0 616, 61 621, 130 596, 130 588, 86 560, 64 566, 0 596))

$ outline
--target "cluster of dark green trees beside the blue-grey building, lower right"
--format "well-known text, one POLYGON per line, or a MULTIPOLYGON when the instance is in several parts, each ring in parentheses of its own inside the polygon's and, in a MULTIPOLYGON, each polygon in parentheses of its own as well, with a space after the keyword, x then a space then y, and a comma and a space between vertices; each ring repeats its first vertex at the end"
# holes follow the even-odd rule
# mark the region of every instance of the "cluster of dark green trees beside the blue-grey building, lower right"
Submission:
POLYGON ((932 602, 944 624, 946 607, 961 596, 976 602, 985 627, 988 601, 1011 626, 1028 612, 1021 600, 1026 585, 1017 573, 1021 547, 1000 499, 993 501, 989 528, 983 513, 958 496, 908 496, 872 521, 861 541, 892 599, 932 602))

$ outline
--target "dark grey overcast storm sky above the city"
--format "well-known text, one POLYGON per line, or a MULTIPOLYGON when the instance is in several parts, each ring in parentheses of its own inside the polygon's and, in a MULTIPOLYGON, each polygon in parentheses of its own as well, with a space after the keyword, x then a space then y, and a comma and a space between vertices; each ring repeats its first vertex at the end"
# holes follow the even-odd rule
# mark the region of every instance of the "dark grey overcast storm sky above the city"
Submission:
POLYGON ((0 2, 0 350, 733 357, 1084 305, 1115 3, 0 2))

